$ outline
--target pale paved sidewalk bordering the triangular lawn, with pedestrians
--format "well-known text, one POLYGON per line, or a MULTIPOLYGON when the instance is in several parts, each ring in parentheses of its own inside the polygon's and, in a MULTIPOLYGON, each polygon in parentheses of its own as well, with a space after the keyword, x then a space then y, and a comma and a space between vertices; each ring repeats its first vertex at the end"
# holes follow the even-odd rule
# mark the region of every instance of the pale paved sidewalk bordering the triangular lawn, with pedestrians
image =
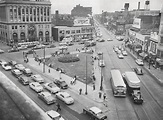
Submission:
MULTIPOLYGON (((96 53, 94 53, 94 55, 95 54, 96 53)), ((27 64, 29 66, 35 68, 38 71, 42 71, 43 64, 41 63, 39 65, 38 62, 36 62, 34 60, 34 58, 29 58, 29 62, 27 64)), ((71 85, 70 82, 73 80, 72 77, 70 77, 66 74, 59 73, 55 69, 52 69, 48 66, 45 66, 45 73, 43 73, 43 74, 49 76, 52 79, 55 79, 55 78, 60 79, 61 78, 62 80, 65 80, 69 86, 69 89, 76 94, 75 96, 77 98, 75 98, 75 99, 77 99, 80 102, 83 101, 83 103, 82 103, 83 105, 88 106, 88 105, 90 105, 90 103, 92 103, 93 105, 98 106, 102 110, 107 111, 108 108, 106 106, 104 106, 104 103, 103 103, 104 102, 104 100, 103 100, 104 91, 100 91, 101 73, 100 73, 100 68, 98 67, 98 60, 94 60, 94 75, 96 77, 96 80, 94 82, 95 90, 93 90, 93 84, 87 85, 87 95, 85 94, 86 84, 83 82, 77 81, 75 85, 71 85), (50 73, 48 72, 49 69, 50 69, 50 73), (80 88, 82 89, 82 95, 79 95, 80 88), (102 93, 101 98, 99 98, 99 92, 102 93)))

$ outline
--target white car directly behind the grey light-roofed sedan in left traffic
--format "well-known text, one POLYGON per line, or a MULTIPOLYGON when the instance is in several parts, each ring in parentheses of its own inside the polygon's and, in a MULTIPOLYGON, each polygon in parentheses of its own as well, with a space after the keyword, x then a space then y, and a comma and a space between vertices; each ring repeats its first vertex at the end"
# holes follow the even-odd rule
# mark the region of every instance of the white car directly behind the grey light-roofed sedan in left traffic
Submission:
POLYGON ((43 91, 43 87, 38 82, 29 83, 29 87, 36 91, 37 93, 43 91))

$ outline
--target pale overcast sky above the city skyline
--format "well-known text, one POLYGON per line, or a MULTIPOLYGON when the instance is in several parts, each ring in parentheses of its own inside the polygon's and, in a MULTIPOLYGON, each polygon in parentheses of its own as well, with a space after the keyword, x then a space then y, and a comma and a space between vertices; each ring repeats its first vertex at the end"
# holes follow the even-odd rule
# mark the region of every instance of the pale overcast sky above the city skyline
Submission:
MULTIPOLYGON (((92 7, 94 14, 101 13, 102 10, 113 12, 119 11, 124 8, 125 3, 129 3, 129 10, 137 9, 138 2, 140 2, 140 8, 144 8, 146 0, 50 0, 52 14, 55 10, 59 10, 59 13, 71 13, 71 10, 76 5, 84 7, 92 7)), ((149 0, 151 10, 161 10, 163 0, 149 0)))

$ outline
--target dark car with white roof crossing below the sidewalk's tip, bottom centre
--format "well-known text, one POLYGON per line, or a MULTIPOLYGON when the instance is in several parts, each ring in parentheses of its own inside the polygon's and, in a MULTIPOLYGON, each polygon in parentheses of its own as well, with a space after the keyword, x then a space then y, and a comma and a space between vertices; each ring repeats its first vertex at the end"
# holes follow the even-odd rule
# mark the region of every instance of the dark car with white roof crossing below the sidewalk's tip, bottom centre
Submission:
POLYGON ((83 109, 83 113, 90 115, 95 120, 107 120, 107 116, 98 107, 86 107, 83 109))

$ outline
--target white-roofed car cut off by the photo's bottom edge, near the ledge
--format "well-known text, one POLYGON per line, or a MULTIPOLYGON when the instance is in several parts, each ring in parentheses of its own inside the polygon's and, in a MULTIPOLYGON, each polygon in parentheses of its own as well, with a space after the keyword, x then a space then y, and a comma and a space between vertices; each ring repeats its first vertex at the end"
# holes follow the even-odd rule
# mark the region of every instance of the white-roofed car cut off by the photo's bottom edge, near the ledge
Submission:
POLYGON ((46 114, 52 119, 52 120, 64 120, 64 118, 56 111, 49 110, 46 112, 46 114))

